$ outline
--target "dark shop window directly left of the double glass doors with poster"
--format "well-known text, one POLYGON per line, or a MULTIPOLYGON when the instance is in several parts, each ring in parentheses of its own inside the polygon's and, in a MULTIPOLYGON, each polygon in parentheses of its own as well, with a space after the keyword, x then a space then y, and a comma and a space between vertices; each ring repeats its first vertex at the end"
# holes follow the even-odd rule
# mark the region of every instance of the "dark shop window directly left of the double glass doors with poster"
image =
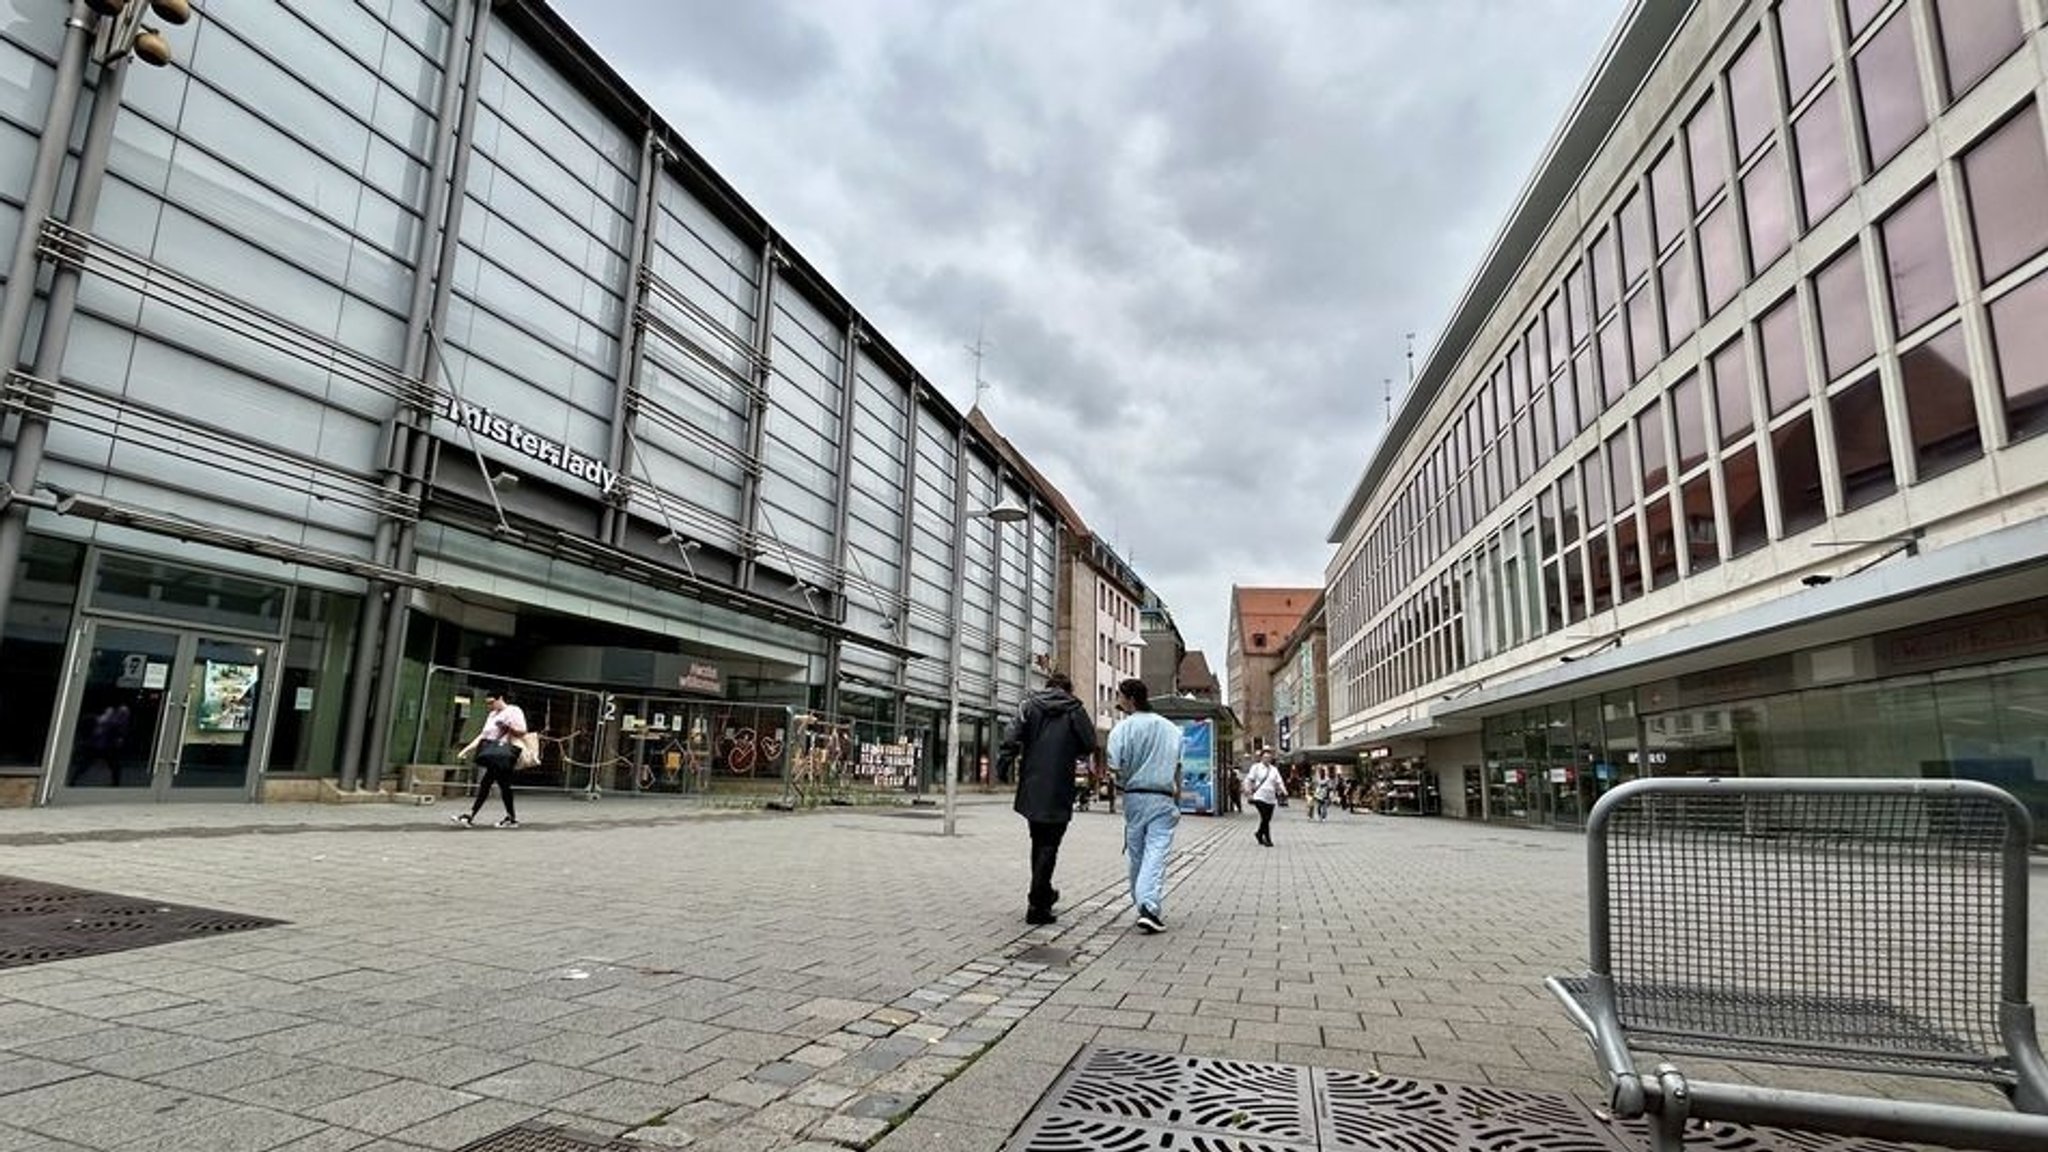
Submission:
POLYGON ((31 535, 23 543, 14 566, 14 605, 0 635, 0 701, 6 701, 0 767, 43 767, 84 560, 84 545, 68 539, 31 535))

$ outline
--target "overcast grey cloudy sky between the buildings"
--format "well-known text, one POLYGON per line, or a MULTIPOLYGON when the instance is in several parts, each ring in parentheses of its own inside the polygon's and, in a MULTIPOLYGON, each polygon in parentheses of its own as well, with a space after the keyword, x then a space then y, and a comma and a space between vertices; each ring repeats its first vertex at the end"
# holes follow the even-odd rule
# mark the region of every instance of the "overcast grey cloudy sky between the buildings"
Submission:
MULTIPOLYGON (((553 0, 1223 674, 1624 0, 553 0)), ((1399 396, 1397 396, 1399 402, 1399 396)))

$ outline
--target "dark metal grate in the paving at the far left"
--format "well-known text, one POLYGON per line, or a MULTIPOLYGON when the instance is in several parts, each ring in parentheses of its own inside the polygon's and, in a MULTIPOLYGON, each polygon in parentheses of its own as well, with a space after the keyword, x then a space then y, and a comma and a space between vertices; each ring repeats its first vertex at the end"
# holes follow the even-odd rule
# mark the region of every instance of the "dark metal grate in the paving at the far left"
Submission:
POLYGON ((244 933, 281 922, 0 875, 0 968, 244 933))

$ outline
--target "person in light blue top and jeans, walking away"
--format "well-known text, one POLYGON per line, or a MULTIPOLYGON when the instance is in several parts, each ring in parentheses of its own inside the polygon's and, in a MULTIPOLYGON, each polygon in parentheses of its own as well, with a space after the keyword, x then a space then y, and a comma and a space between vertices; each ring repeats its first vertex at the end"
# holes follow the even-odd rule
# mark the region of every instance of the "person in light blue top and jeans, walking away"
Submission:
POLYGON ((1124 855, 1130 857, 1130 902, 1139 929, 1163 933, 1165 857, 1180 824, 1180 726, 1151 709, 1145 681, 1116 685, 1108 760, 1124 793, 1124 855))

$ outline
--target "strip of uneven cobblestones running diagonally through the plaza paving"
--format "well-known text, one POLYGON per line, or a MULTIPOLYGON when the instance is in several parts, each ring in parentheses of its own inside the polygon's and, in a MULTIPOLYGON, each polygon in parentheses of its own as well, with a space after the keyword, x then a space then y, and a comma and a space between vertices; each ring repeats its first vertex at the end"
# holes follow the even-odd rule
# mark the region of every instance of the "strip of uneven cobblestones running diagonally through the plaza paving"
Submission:
MULTIPOLYGON (((1190 828, 1184 822, 1167 863, 1167 886, 1200 867, 1229 830, 1229 824, 1190 828)), ((918 1105, 1128 929, 1130 898, 1124 881, 1116 881, 1065 904, 1057 924, 1030 929, 999 951, 977 957, 700 1101, 633 1127, 621 1140, 684 1148, 702 1142, 707 1132, 745 1117, 750 1125, 782 1136, 764 1152, 866 1148, 918 1111, 918 1105)))

